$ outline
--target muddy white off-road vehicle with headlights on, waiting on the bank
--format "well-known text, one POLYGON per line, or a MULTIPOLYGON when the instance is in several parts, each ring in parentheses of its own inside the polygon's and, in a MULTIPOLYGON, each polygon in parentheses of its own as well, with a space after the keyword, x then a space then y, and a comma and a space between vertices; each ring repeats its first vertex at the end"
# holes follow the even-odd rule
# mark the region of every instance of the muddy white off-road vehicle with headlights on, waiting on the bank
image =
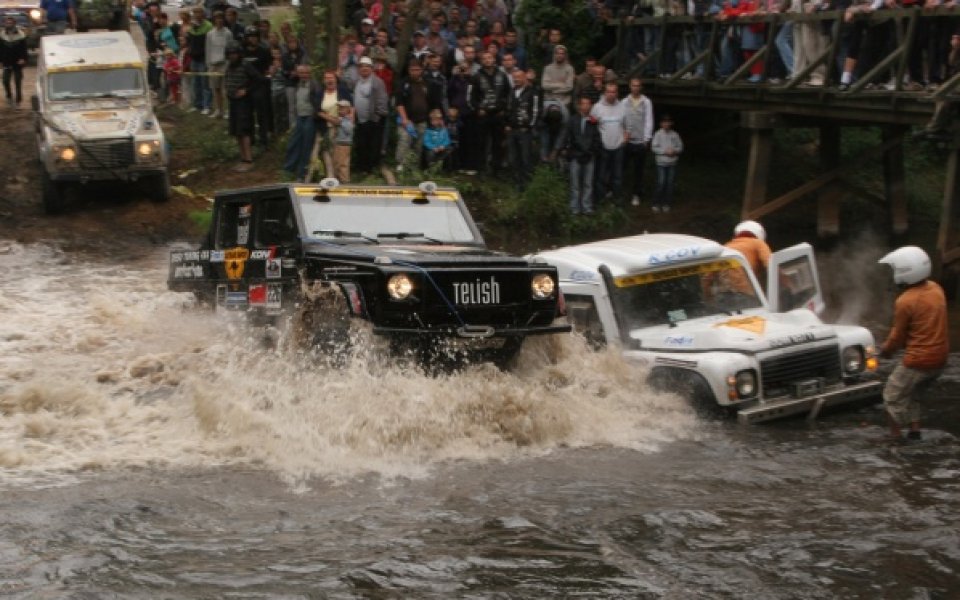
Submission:
POLYGON ((32 101, 47 213, 94 181, 127 181, 155 201, 170 198, 166 140, 128 32, 44 37, 32 101))

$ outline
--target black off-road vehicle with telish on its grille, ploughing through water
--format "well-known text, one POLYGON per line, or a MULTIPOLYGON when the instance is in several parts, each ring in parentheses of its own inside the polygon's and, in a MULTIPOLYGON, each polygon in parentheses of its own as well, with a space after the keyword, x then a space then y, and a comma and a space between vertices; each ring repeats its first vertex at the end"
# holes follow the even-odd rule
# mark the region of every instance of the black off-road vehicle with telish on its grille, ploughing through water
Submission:
POLYGON ((570 330, 555 268, 488 250, 460 195, 419 187, 283 184, 217 194, 169 287, 216 307, 290 316, 308 345, 369 322, 421 359, 503 363, 526 336, 570 330))

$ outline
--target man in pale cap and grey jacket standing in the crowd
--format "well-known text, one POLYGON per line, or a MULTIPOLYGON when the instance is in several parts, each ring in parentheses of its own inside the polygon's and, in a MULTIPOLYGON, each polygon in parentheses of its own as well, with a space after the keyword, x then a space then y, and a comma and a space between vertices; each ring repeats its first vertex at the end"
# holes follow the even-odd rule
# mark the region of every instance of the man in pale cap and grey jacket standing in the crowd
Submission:
POLYGON ((369 56, 360 58, 353 100, 356 115, 353 141, 356 150, 355 170, 371 171, 380 166, 383 126, 389 99, 383 81, 373 74, 373 61, 369 56))

